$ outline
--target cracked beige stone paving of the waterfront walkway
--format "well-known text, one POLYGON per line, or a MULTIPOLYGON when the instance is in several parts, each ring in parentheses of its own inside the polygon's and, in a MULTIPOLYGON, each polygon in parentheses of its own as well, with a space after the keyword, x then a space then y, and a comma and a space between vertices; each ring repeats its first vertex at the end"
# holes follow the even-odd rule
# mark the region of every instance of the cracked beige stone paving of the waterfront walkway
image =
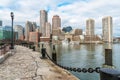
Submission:
POLYGON ((49 59, 40 59, 39 52, 15 47, 16 53, 0 64, 0 80, 79 80, 49 59))

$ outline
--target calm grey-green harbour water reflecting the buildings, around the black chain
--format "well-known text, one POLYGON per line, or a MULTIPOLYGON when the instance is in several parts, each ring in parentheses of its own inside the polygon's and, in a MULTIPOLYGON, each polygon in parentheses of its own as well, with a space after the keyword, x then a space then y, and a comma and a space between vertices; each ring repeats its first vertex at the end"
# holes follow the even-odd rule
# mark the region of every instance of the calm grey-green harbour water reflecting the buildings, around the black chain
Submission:
MULTIPOLYGON (((56 45, 57 62, 75 68, 102 67, 108 44, 56 45)), ((113 65, 120 70, 120 44, 112 44, 113 65)), ((81 80, 99 80, 98 73, 71 72, 81 80)))

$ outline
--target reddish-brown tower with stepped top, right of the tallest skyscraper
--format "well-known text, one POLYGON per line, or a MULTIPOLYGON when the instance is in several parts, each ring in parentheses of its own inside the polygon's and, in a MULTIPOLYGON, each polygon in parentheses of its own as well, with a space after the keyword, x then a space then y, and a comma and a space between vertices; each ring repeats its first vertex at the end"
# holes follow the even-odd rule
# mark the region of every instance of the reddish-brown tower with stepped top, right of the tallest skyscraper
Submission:
POLYGON ((60 29, 61 27, 61 19, 58 15, 54 15, 52 18, 52 30, 60 29))

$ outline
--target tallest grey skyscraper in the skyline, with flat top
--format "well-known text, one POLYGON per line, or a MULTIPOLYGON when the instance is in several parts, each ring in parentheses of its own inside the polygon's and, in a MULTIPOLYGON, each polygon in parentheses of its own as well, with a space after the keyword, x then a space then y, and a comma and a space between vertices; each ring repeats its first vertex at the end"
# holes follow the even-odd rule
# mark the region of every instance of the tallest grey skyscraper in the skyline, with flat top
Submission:
POLYGON ((40 11, 40 33, 45 36, 45 24, 47 22, 47 12, 45 10, 40 11))

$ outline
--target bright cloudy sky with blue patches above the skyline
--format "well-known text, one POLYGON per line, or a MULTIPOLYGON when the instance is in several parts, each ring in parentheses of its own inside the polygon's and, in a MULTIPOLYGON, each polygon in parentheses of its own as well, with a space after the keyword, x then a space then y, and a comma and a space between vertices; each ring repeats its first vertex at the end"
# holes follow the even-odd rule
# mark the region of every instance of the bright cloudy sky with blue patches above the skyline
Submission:
POLYGON ((43 9, 48 11, 50 23, 53 15, 59 15, 62 27, 85 30, 86 19, 93 18, 96 34, 102 34, 102 18, 112 16, 114 36, 120 36, 120 0, 0 0, 0 20, 11 25, 10 12, 14 12, 14 25, 25 26, 29 20, 39 26, 43 9))

